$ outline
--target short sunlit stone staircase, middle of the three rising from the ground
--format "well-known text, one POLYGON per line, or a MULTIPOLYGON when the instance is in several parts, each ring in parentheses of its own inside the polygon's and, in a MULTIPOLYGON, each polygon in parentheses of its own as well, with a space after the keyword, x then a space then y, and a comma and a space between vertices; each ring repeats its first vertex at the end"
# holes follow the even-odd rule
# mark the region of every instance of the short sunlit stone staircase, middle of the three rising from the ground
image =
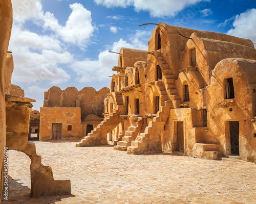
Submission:
POLYGON ((137 117, 137 120, 128 127, 125 131, 122 141, 117 142, 117 146, 114 146, 114 150, 126 151, 128 146, 131 146, 132 140, 135 140, 143 124, 143 118, 137 117))

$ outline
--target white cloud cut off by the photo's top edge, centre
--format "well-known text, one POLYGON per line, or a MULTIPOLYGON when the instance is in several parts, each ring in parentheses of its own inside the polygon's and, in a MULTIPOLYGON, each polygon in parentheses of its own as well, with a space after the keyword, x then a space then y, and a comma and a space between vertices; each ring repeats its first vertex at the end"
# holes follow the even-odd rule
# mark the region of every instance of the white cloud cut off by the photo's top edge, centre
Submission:
POLYGON ((94 0, 96 4, 107 8, 134 6, 135 11, 141 10, 150 12, 152 17, 175 16, 184 8, 200 2, 210 2, 210 0, 94 0))

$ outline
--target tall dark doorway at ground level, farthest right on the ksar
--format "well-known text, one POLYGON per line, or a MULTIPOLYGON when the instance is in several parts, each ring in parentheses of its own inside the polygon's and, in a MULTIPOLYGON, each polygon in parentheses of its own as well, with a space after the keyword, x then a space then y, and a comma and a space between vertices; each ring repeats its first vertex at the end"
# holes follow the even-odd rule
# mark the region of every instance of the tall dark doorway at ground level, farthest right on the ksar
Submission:
POLYGON ((231 154, 239 155, 239 122, 229 122, 231 154))

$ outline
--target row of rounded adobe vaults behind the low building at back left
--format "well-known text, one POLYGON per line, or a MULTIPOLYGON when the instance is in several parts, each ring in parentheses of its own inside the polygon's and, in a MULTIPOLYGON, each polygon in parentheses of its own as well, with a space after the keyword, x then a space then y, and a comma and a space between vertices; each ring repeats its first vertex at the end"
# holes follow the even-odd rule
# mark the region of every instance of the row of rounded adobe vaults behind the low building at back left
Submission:
POLYGON ((59 87, 51 87, 45 92, 44 107, 80 107, 81 117, 86 115, 97 115, 102 117, 104 111, 104 98, 110 92, 109 88, 102 88, 96 91, 92 87, 84 87, 78 91, 75 87, 68 87, 61 90, 59 87))

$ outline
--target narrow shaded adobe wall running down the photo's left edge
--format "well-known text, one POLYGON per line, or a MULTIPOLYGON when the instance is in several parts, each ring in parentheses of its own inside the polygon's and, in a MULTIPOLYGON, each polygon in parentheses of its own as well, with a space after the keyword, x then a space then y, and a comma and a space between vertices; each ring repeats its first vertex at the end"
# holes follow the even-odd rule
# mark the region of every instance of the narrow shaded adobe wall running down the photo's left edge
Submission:
MULTIPOLYGON (((0 2, 0 28, 0 192, 2 192, 4 147, 6 146, 5 71, 6 56, 12 29, 11 0, 0 2)), ((2 193, 0 199, 1 197, 2 193)))

